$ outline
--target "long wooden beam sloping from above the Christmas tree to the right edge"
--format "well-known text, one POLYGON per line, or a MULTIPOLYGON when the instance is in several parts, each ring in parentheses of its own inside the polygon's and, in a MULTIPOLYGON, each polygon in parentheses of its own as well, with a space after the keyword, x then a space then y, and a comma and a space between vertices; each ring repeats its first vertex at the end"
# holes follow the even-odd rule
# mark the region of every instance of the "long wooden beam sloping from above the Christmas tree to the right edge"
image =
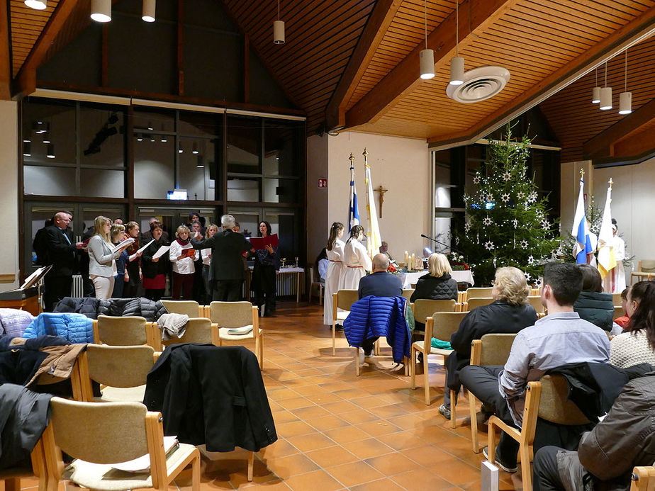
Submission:
POLYGON ((542 103, 628 47, 649 38, 653 33, 655 33, 655 9, 648 9, 622 28, 616 30, 615 33, 594 45, 590 50, 583 52, 571 62, 553 72, 539 84, 534 84, 530 90, 513 98, 511 103, 506 104, 498 111, 494 111, 493 114, 477 123, 474 128, 453 133, 447 137, 428 138, 427 142, 430 143, 432 149, 469 145, 496 130, 496 128, 509 123, 528 109, 542 103))

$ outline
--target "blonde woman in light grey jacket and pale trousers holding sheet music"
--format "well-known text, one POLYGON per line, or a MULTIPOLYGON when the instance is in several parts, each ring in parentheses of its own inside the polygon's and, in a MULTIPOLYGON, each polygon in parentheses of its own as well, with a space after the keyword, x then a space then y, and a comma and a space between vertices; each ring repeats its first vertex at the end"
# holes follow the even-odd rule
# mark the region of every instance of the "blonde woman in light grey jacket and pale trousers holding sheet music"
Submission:
POLYGON ((107 300, 113 291, 116 276, 116 259, 121 256, 121 247, 113 252, 111 237, 111 220, 99 216, 94 220, 94 236, 89 240, 89 278, 94 282, 96 298, 107 300))

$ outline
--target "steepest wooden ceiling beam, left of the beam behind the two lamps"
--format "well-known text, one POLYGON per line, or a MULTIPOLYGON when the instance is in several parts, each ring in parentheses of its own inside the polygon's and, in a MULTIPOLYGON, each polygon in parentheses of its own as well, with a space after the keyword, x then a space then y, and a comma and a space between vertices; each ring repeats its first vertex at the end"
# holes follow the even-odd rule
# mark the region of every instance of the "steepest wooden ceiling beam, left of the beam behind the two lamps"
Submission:
POLYGON ((357 84, 359 84, 364 72, 366 72, 366 68, 373 59, 402 3, 402 0, 378 0, 376 2, 339 84, 337 84, 337 88, 332 94, 332 98, 330 98, 330 103, 327 104, 325 109, 325 120, 328 129, 332 130, 345 126, 345 106, 355 89, 357 89, 357 84))

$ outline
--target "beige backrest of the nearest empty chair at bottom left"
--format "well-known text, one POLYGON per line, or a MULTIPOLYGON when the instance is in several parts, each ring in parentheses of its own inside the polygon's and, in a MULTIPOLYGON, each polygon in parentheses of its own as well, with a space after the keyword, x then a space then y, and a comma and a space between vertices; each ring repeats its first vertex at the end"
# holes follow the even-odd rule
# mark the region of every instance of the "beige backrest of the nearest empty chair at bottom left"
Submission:
POLYGON ((55 444, 73 458, 99 464, 131 461, 149 453, 145 417, 139 402, 50 400, 55 444))

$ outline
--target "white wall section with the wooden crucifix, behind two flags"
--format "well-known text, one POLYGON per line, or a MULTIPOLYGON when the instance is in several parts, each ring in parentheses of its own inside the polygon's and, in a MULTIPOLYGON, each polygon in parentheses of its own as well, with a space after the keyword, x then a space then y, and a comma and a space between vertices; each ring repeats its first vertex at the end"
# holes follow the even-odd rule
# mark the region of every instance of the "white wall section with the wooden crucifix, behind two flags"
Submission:
MULTIPOLYGON (((374 192, 380 234, 389 244, 389 253, 403 261, 405 251, 421 256, 430 235, 430 154, 425 140, 343 132, 328 137, 327 223, 343 222, 347 229, 350 161, 352 152, 359 216, 366 230, 366 187, 364 186, 364 147, 369 153, 373 188, 383 185, 382 218, 379 193, 374 192)), ((327 237, 327 227, 323 235, 327 237)))

